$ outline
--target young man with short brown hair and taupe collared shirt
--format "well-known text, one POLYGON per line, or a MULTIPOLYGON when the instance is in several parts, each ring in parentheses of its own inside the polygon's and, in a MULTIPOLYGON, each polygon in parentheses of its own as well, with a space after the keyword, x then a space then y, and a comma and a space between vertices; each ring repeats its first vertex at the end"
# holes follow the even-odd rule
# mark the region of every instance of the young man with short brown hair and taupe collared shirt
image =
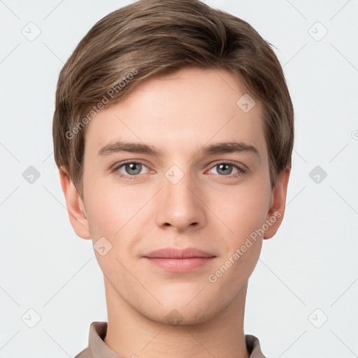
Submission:
POLYGON ((60 73, 53 137, 106 288, 76 357, 264 357, 245 297, 284 215, 294 112, 255 29, 196 0, 110 13, 60 73))

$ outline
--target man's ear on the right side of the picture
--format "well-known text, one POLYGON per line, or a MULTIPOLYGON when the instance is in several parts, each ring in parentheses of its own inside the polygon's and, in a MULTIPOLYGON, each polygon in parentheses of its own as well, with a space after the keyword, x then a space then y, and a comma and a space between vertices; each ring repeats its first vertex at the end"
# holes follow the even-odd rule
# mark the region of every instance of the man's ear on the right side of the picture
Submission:
POLYGON ((272 236, 276 234, 276 231, 278 231, 283 220, 290 171, 291 169, 289 168, 278 174, 277 183, 271 194, 270 206, 266 217, 268 229, 265 231, 264 239, 272 238, 272 236))

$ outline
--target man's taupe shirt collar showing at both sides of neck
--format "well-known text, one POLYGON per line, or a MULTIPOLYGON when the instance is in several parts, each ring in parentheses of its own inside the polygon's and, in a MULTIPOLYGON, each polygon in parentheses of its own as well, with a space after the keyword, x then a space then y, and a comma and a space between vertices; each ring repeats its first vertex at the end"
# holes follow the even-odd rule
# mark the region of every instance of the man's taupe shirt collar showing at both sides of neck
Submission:
MULTIPOLYGON (((90 336, 88 347, 78 353, 75 358, 121 358, 113 352, 103 338, 106 337, 107 322, 92 322, 90 325, 90 336)), ((250 358, 266 358, 261 351, 259 338, 251 334, 245 334, 245 343, 250 353, 250 358)))

